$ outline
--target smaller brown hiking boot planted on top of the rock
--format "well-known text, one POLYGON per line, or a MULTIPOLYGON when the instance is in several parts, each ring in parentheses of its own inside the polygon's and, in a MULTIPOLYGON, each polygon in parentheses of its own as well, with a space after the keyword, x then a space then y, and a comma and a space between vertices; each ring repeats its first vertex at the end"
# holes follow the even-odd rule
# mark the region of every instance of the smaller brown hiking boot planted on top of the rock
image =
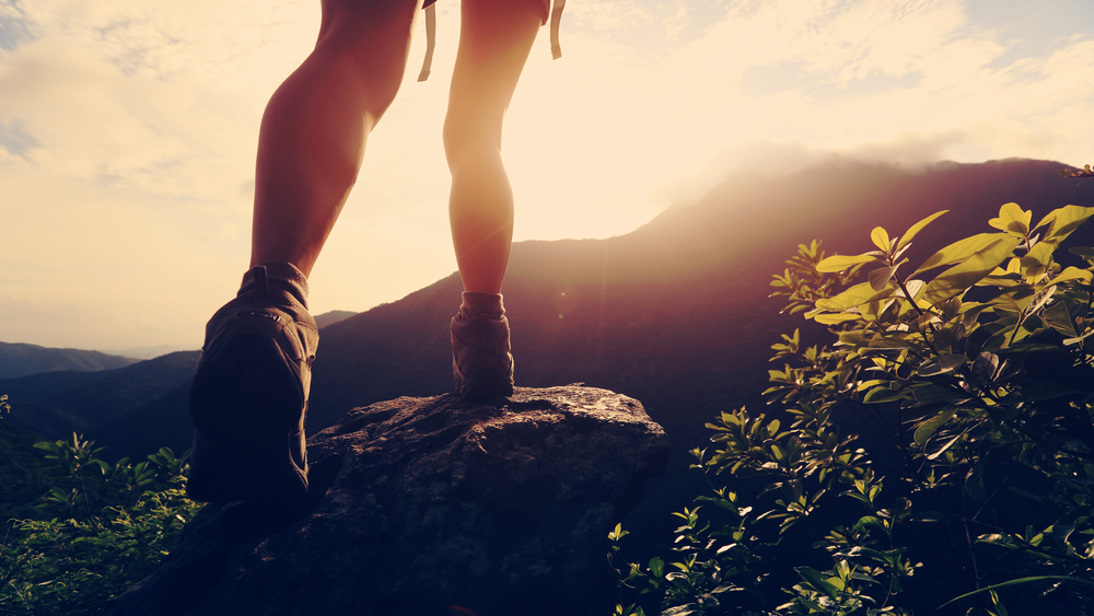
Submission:
POLYGON ((452 317, 450 329, 452 376, 459 397, 486 400, 513 395, 513 356, 501 295, 464 293, 464 305, 452 317), (492 295, 497 305, 476 310, 468 295, 492 295))

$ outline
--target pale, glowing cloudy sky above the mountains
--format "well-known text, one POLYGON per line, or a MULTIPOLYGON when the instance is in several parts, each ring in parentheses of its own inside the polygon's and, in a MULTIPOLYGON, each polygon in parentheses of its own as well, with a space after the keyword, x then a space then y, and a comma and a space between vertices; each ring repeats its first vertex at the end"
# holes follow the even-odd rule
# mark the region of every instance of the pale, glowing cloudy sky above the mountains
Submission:
MULTIPOLYGON (((0 340, 201 346, 247 267, 269 95, 316 0, 0 0, 0 340)), ((438 4, 312 272, 313 313, 455 270, 438 4)), ((1090 0, 569 0, 505 123, 515 240, 609 237, 734 170, 826 156, 1094 163, 1090 0)), ((453 298, 453 311, 458 305, 453 298)))

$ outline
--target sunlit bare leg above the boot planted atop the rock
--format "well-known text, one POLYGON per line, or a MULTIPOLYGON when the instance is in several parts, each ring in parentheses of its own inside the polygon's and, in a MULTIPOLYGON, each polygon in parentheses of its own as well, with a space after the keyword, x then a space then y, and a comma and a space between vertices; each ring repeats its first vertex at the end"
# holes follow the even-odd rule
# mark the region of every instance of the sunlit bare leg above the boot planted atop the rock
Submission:
POLYGON ((500 293, 513 243, 501 127, 543 23, 540 0, 463 0, 444 151, 449 220, 464 291, 500 293))

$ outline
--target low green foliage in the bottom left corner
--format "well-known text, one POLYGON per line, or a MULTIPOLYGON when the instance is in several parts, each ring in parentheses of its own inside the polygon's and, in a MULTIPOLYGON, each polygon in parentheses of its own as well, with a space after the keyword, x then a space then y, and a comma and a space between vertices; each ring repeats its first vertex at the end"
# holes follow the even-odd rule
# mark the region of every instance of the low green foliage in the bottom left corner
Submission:
POLYGON ((185 497, 186 456, 163 448, 147 462, 98 458, 72 434, 34 446, 59 477, 36 505, 9 520, 0 544, 0 612, 95 614, 151 574, 201 508, 185 497))

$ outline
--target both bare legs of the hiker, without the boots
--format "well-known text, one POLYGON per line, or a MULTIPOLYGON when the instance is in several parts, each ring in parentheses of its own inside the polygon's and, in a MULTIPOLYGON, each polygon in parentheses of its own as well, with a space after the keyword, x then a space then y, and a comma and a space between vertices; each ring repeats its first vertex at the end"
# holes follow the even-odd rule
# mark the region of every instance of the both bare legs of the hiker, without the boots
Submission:
MULTIPOLYGON (((398 92, 419 9, 405 0, 323 1, 315 50, 263 116, 252 266, 280 260, 311 274, 357 181, 369 132, 398 92)), ((444 121, 452 236, 464 290, 499 293, 513 229, 502 120, 544 4, 462 0, 461 18, 444 121)))

